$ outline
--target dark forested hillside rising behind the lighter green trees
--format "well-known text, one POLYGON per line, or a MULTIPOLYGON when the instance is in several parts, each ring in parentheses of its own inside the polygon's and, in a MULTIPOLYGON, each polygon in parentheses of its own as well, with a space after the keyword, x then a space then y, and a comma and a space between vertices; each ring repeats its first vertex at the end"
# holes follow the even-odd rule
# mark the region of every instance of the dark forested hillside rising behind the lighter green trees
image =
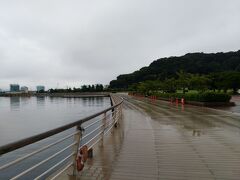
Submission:
POLYGON ((111 89, 127 89, 130 85, 147 80, 177 78, 177 72, 199 75, 218 75, 240 72, 240 50, 227 53, 189 53, 180 57, 161 58, 130 74, 119 75, 110 82, 111 89))

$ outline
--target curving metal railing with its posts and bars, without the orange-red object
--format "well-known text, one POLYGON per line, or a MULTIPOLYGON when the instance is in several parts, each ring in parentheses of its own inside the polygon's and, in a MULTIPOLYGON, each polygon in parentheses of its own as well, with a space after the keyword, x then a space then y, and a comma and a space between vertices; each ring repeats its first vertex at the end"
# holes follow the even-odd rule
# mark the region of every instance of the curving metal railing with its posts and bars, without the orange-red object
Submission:
POLYGON ((22 157, 19 157, 11 162, 8 162, 2 166, 0 166, 0 173, 7 168, 11 168, 12 166, 20 165, 24 160, 33 157, 41 152, 44 152, 56 145, 59 145, 63 142, 70 141, 64 147, 61 146, 57 152, 50 154, 49 156, 41 159, 40 162, 32 165, 29 168, 24 169, 17 174, 14 174, 10 179, 19 179, 24 178, 25 175, 31 174, 32 171, 36 170, 40 166, 48 163, 54 158, 61 156, 62 154, 66 154, 62 158, 58 158, 58 161, 54 163, 51 167, 49 167, 44 172, 37 174, 35 177, 31 177, 31 179, 43 179, 49 177, 50 179, 56 179, 63 172, 68 170, 70 167, 73 167, 72 175, 76 174, 76 158, 77 153, 81 147, 87 145, 88 150, 92 150, 92 148, 101 140, 103 140, 104 136, 107 135, 114 126, 118 124, 119 119, 122 116, 122 102, 123 100, 117 96, 110 96, 112 106, 93 114, 89 117, 83 118, 76 122, 58 127, 56 129, 52 129, 50 131, 14 142, 0 147, 0 156, 3 154, 7 154, 19 148, 25 147, 27 145, 31 145, 33 143, 39 142, 40 140, 44 140, 46 138, 52 137, 53 135, 60 134, 64 131, 67 131, 71 128, 75 128, 74 132, 62 137, 54 142, 44 145, 43 147, 39 147, 37 150, 34 150, 22 157), (53 173, 54 172, 54 173, 53 173))

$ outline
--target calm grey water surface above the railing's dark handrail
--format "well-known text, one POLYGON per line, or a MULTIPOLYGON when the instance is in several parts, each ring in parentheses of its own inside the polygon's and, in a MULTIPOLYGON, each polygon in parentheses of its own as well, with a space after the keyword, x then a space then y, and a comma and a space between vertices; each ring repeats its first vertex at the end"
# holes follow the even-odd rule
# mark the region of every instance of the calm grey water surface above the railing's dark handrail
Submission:
POLYGON ((108 97, 0 97, 0 146, 79 120, 109 106, 108 97))

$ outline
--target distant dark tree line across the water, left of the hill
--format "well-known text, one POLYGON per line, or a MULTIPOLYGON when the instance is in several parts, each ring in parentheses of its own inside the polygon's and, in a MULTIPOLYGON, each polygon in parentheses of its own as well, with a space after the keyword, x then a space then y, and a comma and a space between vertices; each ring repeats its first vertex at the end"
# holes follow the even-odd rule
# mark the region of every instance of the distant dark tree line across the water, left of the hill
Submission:
POLYGON ((96 85, 83 85, 80 88, 67 88, 67 89, 49 89, 50 93, 71 93, 71 92, 102 92, 104 87, 102 84, 96 85))

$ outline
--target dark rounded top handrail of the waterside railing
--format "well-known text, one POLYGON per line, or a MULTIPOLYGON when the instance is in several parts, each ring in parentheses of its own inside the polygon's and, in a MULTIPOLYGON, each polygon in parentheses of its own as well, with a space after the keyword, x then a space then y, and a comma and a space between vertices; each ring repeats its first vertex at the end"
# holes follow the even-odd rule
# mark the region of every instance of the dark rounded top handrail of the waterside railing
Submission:
POLYGON ((16 149, 22 148, 22 147, 27 146, 29 144, 33 144, 33 143, 38 142, 42 139, 45 139, 45 138, 48 138, 48 137, 53 136, 55 134, 58 134, 60 132, 66 131, 67 129, 73 128, 75 126, 80 126, 82 123, 87 122, 87 121, 89 121, 89 120, 91 120, 91 119, 93 119, 93 118, 95 118, 95 117, 97 117, 101 114, 104 114, 104 113, 114 109, 115 107, 122 104, 122 102, 123 102, 123 100, 121 100, 121 102, 119 102, 116 105, 113 105, 113 106, 111 106, 111 107, 109 107, 109 108, 107 108, 103 111, 100 111, 100 112, 95 113, 91 116, 85 117, 83 119, 80 119, 78 121, 60 126, 58 128, 55 128, 55 129, 52 129, 52 130, 49 130, 49 131, 31 136, 31 137, 28 137, 28 138, 24 138, 22 140, 15 141, 13 143, 9 143, 9 144, 0 146, 0 155, 3 155, 3 154, 6 154, 8 152, 14 151, 16 149))

